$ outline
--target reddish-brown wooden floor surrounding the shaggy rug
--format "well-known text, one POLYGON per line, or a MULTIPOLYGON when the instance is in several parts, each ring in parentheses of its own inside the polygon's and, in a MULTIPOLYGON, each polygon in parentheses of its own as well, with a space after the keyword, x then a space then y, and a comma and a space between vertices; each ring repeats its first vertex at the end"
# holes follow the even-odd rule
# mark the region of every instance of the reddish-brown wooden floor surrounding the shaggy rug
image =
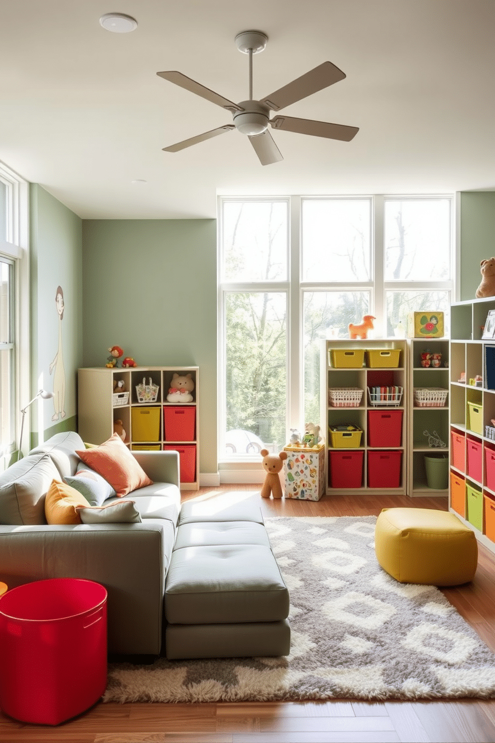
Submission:
MULTIPOLYGON (((183 499, 249 499, 265 516, 378 516, 381 508, 447 510, 447 499, 324 496, 319 502, 263 500, 259 486, 201 488, 183 499)), ((445 596, 495 651, 495 557, 480 546, 473 583, 445 596)), ((0 658, 1 663, 1 658, 0 658)), ((495 742, 495 700, 244 704, 96 704, 56 728, 0 713, 0 741, 71 743, 495 742)))

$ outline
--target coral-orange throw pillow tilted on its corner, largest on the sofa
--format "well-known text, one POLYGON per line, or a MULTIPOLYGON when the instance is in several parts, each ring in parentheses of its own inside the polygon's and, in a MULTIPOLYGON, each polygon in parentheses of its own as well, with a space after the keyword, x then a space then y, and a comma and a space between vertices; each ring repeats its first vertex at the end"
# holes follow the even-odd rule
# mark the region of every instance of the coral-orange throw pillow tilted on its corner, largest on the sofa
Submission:
POLYGON ((111 484, 119 498, 153 484, 117 433, 99 447, 76 451, 76 454, 111 484))

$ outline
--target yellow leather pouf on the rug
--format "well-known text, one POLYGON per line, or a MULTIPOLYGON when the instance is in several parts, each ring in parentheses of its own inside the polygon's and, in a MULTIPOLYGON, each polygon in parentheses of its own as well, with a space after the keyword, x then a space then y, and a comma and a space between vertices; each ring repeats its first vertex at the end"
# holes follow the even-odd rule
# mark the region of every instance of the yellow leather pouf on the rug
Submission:
POLYGON ((400 583, 461 585, 473 580, 478 544, 453 513, 384 508, 376 520, 376 558, 400 583))

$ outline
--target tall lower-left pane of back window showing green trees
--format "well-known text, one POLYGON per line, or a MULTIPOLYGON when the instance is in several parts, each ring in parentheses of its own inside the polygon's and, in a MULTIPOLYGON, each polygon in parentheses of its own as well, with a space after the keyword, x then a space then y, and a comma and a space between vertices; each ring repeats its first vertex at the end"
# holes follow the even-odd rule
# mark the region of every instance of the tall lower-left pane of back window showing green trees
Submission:
POLYGON ((227 292, 226 455, 286 443, 286 293, 227 292))

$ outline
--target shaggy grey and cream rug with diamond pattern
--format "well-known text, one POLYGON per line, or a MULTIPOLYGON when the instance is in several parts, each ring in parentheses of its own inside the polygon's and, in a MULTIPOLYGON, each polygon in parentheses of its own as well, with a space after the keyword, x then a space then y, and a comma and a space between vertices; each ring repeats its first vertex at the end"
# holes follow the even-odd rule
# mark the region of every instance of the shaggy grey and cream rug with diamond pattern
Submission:
POLYGON ((103 701, 495 698, 494 653, 438 588, 382 570, 375 523, 266 519, 290 593, 290 655, 112 663, 103 701))

